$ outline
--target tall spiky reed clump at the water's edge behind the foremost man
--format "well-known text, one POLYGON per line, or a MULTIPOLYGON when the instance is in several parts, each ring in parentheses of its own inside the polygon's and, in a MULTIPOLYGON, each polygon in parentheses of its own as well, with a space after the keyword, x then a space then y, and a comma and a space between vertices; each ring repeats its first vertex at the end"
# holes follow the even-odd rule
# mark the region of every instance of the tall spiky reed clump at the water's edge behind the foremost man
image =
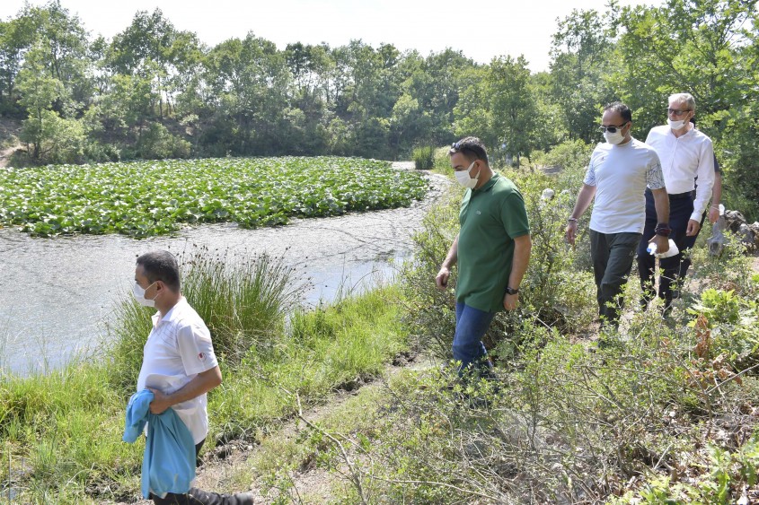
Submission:
MULTIPOLYGON (((200 247, 178 259, 182 293, 206 322, 216 355, 231 366, 252 347, 278 343, 287 311, 300 303, 307 287, 282 258, 267 254, 212 253, 200 247)), ((115 348, 109 354, 111 378, 119 387, 134 387, 154 312, 131 296, 115 309, 109 325, 115 348)))

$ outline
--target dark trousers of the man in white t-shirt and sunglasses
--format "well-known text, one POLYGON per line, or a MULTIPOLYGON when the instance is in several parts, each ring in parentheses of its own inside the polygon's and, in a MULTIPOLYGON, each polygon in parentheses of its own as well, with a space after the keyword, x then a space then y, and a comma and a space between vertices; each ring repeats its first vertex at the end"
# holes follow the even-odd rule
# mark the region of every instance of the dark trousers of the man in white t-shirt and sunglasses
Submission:
POLYGON ((616 326, 622 309, 622 286, 627 283, 640 243, 640 233, 590 231, 590 257, 596 276, 596 300, 601 324, 616 326))

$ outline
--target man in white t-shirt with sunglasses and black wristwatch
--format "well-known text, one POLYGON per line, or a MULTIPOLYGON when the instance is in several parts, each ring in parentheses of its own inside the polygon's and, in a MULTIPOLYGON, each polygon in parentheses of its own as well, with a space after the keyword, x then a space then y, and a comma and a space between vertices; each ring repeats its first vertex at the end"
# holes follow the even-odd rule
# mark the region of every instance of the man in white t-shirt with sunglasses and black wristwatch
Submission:
POLYGON ((630 135, 632 112, 621 102, 607 105, 601 118, 605 144, 590 156, 578 200, 569 216, 566 237, 575 243, 578 219, 596 197, 590 216, 590 255, 596 276, 596 300, 602 325, 619 325, 622 286, 630 275, 635 249, 646 218, 644 192, 651 188, 660 230, 643 239, 655 241, 658 251, 669 249, 669 205, 657 153, 630 135))

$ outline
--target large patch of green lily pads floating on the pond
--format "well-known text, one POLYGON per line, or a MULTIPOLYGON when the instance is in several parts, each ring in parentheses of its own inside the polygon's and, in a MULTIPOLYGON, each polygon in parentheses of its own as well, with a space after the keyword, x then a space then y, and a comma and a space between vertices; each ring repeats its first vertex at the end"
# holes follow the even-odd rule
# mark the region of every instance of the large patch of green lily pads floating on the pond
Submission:
POLYGON ((408 206, 427 191, 419 174, 357 158, 223 158, 0 170, 0 226, 33 235, 149 237, 182 223, 244 228, 293 217, 408 206))

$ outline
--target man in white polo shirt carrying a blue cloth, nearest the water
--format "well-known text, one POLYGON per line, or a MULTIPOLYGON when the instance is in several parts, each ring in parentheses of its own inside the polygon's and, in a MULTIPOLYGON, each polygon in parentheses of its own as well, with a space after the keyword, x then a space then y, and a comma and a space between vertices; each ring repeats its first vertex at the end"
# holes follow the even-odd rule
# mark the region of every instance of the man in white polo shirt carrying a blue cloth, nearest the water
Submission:
MULTIPOLYGON (((168 251, 153 251, 137 257, 135 298, 154 307, 153 330, 147 337, 137 391, 150 389, 154 400, 150 412, 161 414, 173 408, 187 426, 195 443, 195 454, 208 434, 206 394, 221 384, 211 334, 198 313, 182 296, 176 258, 168 251)), ((248 505, 250 493, 234 495, 190 488, 187 493, 151 493, 156 505, 248 505)))

